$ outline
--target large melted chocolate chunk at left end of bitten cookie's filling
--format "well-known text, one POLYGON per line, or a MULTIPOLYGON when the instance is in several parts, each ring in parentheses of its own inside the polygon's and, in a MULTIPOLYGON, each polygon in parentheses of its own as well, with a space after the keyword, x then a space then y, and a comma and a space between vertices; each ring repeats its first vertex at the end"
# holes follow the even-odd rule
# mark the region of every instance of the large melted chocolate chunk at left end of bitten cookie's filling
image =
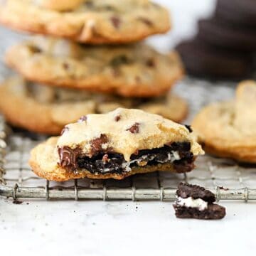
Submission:
POLYGON ((82 153, 80 148, 71 149, 69 146, 58 148, 58 155, 60 157, 59 165, 68 170, 77 169, 76 159, 82 153))

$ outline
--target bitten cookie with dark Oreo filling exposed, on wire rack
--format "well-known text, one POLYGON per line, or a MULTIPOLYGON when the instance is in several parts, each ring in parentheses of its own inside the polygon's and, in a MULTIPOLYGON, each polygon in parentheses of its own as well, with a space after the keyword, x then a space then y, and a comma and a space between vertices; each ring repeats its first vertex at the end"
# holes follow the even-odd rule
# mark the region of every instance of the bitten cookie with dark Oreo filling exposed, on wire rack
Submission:
POLYGON ((157 114, 118 108, 87 114, 31 151, 30 165, 42 178, 122 179, 151 171, 191 171, 203 154, 188 128, 157 114))

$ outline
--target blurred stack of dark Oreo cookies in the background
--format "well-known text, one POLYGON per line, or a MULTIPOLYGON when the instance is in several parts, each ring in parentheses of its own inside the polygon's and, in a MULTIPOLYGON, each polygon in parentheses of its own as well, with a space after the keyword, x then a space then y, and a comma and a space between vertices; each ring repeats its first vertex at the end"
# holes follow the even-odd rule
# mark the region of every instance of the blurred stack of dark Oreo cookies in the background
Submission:
POLYGON ((176 48, 191 75, 252 78, 256 1, 218 0, 213 17, 198 22, 196 38, 176 48))

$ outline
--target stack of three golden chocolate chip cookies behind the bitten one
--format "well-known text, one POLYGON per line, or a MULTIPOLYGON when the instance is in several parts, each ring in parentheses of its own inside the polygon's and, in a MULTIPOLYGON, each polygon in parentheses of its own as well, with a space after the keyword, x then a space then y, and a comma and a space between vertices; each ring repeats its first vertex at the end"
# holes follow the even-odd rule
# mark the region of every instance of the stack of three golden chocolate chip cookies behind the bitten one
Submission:
POLYGON ((169 95, 183 75, 178 55, 137 42, 169 30, 162 6, 147 0, 6 0, 0 22, 46 35, 6 53, 7 65, 21 74, 0 88, 0 111, 11 124, 59 134, 81 115, 117 107, 176 122, 186 116, 186 102, 169 95))

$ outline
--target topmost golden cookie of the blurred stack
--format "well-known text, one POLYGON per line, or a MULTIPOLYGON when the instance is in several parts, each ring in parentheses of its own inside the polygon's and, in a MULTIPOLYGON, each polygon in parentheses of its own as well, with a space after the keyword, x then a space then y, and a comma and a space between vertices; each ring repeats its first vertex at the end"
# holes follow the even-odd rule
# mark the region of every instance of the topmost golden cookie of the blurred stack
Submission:
POLYGON ((148 0, 4 0, 0 22, 82 43, 129 43, 171 26, 167 9, 148 0))

